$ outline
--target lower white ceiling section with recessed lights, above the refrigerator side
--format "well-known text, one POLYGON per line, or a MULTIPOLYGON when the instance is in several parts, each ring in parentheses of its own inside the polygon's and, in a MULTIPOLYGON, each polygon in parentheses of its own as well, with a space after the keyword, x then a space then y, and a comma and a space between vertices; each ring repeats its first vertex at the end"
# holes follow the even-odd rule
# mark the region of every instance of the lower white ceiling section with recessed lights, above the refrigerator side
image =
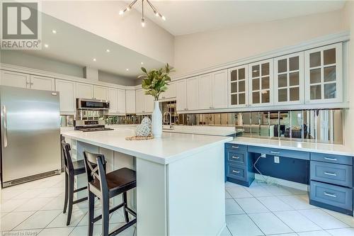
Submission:
POLYGON ((42 13, 42 50, 26 50, 25 53, 49 57, 82 67, 93 67, 131 79, 136 79, 139 74, 142 74, 140 69, 142 66, 147 69, 164 66, 162 62, 45 13, 42 13), (56 34, 52 33, 53 29, 57 30, 56 34), (49 47, 44 47, 45 44, 49 47), (106 52, 107 49, 110 52, 106 52))

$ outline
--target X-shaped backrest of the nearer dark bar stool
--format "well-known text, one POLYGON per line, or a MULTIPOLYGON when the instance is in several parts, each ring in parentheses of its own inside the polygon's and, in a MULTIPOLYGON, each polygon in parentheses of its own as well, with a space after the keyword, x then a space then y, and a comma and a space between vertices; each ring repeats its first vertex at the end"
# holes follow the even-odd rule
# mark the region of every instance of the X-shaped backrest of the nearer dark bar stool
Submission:
POLYGON ((108 193, 108 184, 105 179, 105 156, 85 151, 84 159, 88 183, 97 179, 100 182, 102 194, 108 193))

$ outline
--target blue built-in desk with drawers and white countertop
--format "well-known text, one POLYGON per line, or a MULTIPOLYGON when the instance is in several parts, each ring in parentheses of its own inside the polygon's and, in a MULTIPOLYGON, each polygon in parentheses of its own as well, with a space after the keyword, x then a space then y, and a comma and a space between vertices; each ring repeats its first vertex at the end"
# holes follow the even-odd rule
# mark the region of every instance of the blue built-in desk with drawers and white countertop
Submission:
POLYGON ((310 204, 353 215, 353 156, 343 145, 236 137, 225 143, 225 181, 250 186, 259 158, 262 174, 307 184, 310 204))

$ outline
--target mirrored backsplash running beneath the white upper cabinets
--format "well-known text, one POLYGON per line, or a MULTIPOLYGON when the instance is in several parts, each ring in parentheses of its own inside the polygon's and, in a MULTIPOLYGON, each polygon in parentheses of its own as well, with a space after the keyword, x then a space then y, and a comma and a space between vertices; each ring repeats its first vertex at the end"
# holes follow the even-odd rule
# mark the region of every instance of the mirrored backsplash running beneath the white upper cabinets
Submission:
MULTIPOLYGON (((343 144, 343 109, 251 111, 238 113, 178 114, 166 103, 174 125, 234 126, 244 137, 343 144)), ((151 118, 151 116, 149 116, 151 118)), ((105 116, 107 125, 139 124, 144 116, 105 116)), ((74 116, 61 116, 62 126, 72 126, 74 116)))

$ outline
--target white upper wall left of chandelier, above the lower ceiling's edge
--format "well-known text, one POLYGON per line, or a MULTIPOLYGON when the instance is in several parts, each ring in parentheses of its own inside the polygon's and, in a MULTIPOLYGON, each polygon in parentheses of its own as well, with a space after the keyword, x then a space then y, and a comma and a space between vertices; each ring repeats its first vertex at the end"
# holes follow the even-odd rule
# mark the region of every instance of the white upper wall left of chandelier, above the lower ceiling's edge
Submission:
POLYGON ((125 6, 125 1, 42 1, 42 11, 50 16, 160 62, 173 64, 173 35, 149 19, 142 28, 138 11, 119 16, 118 12, 125 6))

